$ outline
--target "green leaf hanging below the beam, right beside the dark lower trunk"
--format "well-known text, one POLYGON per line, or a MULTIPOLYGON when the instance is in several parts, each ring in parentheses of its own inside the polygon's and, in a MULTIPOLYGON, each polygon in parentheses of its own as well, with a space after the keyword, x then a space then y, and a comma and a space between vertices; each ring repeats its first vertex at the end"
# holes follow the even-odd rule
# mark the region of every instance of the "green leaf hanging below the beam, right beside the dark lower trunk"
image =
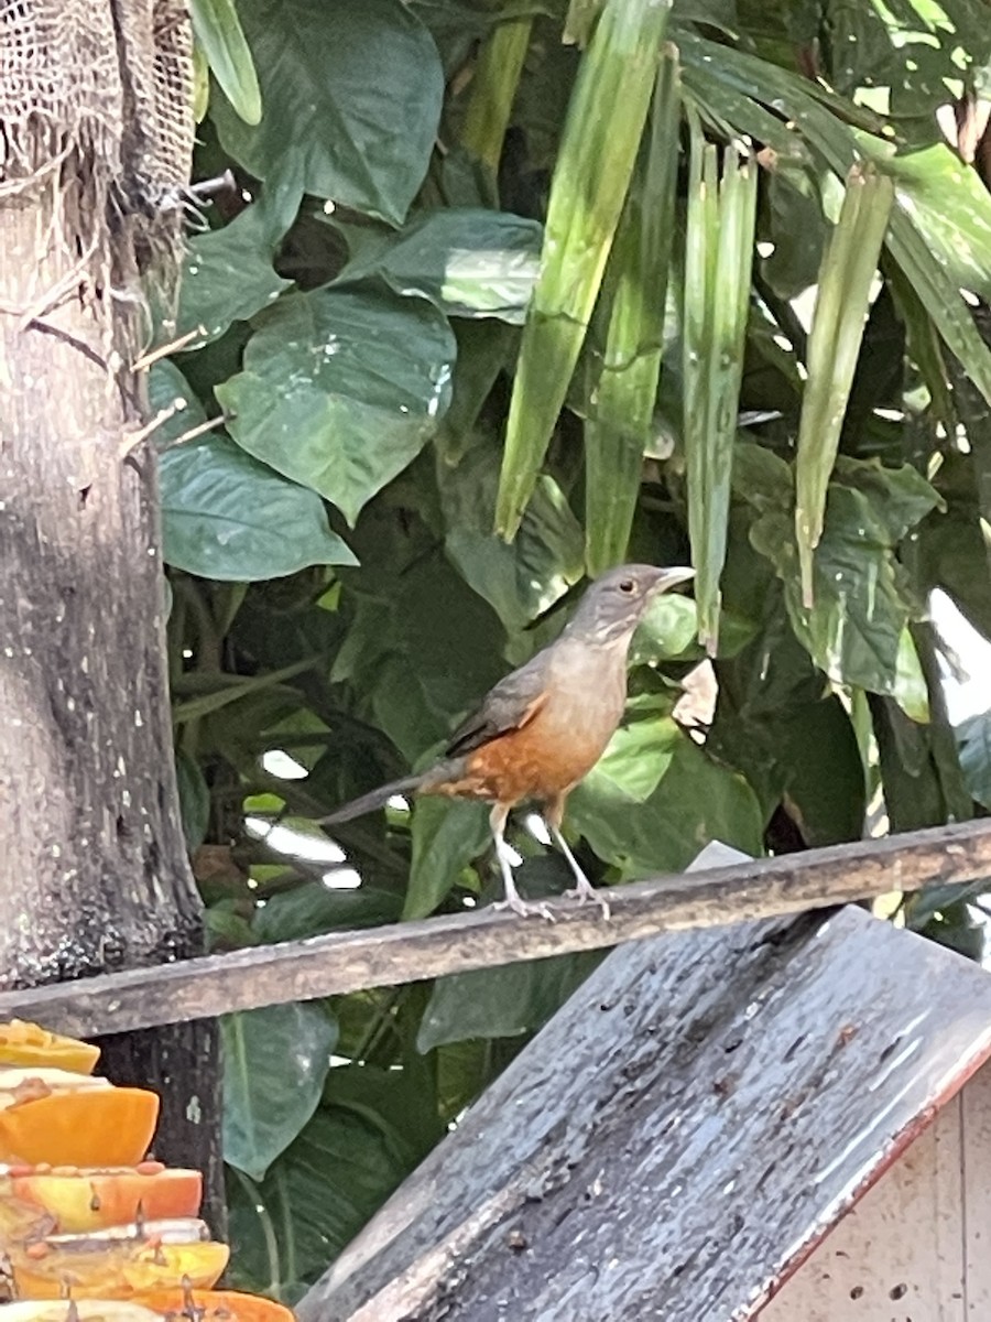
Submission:
POLYGON ((293 1002, 221 1019, 223 1158, 263 1179, 320 1104, 337 1025, 322 1005, 293 1002))

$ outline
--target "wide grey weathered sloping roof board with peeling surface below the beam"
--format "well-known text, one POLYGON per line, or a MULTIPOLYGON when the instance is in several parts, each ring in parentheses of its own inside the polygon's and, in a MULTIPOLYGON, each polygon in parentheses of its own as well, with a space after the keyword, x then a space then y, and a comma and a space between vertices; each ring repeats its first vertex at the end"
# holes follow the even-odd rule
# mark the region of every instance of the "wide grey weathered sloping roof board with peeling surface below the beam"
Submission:
POLYGON ((616 951, 301 1322, 743 1322, 991 1052, 991 977, 854 907, 616 951))

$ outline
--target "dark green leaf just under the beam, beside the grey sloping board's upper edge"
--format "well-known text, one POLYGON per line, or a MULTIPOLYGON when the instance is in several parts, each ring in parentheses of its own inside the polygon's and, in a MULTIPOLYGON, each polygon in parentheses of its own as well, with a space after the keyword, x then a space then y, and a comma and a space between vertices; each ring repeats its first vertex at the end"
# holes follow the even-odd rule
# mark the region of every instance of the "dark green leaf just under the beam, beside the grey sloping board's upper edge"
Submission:
POLYGON ((470 1038, 532 1032, 560 1010, 601 960, 601 951, 583 951, 437 978, 416 1048, 427 1052, 470 1038))

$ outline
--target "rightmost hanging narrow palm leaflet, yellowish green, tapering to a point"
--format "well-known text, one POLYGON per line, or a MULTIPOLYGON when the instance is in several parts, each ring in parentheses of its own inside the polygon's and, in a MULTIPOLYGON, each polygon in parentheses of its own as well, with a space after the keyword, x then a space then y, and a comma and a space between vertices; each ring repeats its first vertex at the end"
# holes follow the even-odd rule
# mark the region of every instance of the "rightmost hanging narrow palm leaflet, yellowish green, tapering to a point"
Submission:
POLYGON ((826 488, 839 449, 893 194, 891 177, 855 167, 847 176, 843 210, 819 268, 795 457, 795 538, 807 607, 813 604, 813 553, 822 535, 826 488))

